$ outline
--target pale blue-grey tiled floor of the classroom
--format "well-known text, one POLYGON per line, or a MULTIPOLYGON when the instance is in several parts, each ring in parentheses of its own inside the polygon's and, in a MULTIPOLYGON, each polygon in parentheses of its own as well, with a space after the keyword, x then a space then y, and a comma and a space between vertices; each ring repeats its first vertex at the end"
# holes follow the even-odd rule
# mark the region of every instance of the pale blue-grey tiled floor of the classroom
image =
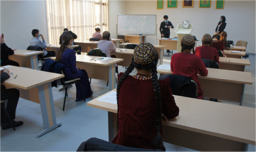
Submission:
MULTIPOLYGON (((164 56, 164 63, 170 63, 170 57, 171 54, 164 56)), ((250 54, 249 59, 252 65, 246 66, 246 72, 252 72, 253 85, 245 87, 244 106, 255 108, 255 55, 250 54)), ((118 68, 119 72, 125 70, 122 67, 118 68)), ((36 134, 43 130, 40 105, 20 98, 16 120, 24 121, 24 125, 16 128, 16 131, 1 130, 1 151, 76 151, 79 144, 90 137, 108 141, 108 113, 88 107, 84 102, 74 102, 76 99, 76 87, 74 86, 68 89, 65 111, 62 111, 64 92, 59 92, 60 88, 53 87, 52 91, 56 119, 58 123, 62 123, 62 126, 36 138, 36 134)), ((106 81, 103 80, 93 79, 92 89, 93 96, 86 99, 86 102, 108 92, 106 81)), ((166 151, 193 151, 173 144, 164 144, 166 151)), ((249 145, 248 151, 255 151, 255 146, 249 145)))

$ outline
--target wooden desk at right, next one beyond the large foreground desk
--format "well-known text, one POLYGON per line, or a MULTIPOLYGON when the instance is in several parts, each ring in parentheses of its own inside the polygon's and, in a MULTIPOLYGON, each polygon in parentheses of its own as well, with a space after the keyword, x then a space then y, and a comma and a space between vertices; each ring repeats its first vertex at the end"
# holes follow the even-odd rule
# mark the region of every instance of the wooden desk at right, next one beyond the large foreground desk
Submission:
MULTIPOLYGON (((229 100, 243 104, 244 85, 252 85, 252 73, 234 70, 207 68, 208 75, 198 75, 204 96, 229 100)), ((157 69, 158 73, 170 74, 172 71, 157 69)))

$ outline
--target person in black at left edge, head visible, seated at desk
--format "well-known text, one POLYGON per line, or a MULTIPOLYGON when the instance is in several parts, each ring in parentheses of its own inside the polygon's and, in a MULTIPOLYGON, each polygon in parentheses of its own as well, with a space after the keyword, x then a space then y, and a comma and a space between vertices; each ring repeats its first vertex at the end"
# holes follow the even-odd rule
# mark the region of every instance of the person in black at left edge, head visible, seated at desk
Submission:
POLYGON ((4 34, 0 33, 1 39, 1 66, 13 65, 20 66, 19 63, 9 59, 14 54, 13 50, 5 44, 4 34))

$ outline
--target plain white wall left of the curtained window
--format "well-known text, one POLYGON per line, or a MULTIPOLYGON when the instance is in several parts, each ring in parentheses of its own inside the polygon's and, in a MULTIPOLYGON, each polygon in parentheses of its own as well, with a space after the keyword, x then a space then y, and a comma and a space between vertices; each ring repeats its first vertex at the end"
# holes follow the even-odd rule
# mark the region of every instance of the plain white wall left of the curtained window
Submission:
POLYGON ((45 1, 1 0, 0 32, 4 33, 8 47, 27 49, 32 29, 38 29, 48 42, 45 1))

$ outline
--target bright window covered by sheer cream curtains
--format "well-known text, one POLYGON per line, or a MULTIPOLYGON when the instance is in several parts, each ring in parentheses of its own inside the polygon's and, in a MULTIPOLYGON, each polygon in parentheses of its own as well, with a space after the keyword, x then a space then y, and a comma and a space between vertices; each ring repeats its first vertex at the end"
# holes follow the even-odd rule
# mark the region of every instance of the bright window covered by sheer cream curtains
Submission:
POLYGON ((47 0, 49 43, 59 44, 64 28, 77 34, 77 42, 92 37, 95 27, 108 30, 108 0, 47 0))

